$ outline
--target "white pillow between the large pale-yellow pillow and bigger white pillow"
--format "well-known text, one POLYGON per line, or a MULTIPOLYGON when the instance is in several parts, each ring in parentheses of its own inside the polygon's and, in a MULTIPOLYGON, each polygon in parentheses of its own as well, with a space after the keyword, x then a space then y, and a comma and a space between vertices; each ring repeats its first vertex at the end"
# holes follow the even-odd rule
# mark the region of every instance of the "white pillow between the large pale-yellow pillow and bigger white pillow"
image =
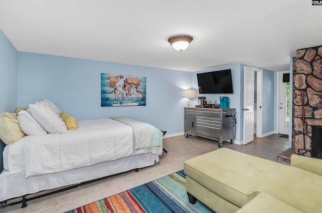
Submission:
POLYGON ((46 130, 36 121, 36 119, 27 111, 22 110, 17 115, 17 120, 21 130, 26 135, 47 134, 46 130))

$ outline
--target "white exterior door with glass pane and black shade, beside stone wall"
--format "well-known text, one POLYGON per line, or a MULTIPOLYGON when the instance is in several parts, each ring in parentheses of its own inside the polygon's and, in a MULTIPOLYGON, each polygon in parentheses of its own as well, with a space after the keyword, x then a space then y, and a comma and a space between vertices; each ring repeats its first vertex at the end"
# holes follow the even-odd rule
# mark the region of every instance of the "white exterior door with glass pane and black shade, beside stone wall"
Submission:
POLYGON ((277 87, 277 129, 279 134, 288 135, 290 122, 290 82, 289 72, 278 73, 277 87))

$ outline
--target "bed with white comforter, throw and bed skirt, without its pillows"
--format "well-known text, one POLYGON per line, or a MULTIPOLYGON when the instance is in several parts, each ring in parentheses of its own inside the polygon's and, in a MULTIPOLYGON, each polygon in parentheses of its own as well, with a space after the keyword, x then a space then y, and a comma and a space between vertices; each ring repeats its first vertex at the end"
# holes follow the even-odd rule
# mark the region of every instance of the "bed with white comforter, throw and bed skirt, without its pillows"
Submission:
POLYGON ((77 129, 64 133, 25 135, 4 148, 0 203, 12 198, 24 203, 27 194, 153 165, 163 153, 162 137, 156 127, 125 117, 77 121, 77 129))

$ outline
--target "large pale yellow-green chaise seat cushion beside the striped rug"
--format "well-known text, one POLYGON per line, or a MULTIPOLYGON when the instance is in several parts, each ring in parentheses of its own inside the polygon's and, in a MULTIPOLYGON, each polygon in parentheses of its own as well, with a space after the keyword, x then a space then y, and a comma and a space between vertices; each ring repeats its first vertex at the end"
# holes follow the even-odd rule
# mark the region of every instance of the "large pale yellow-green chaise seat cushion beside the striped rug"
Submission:
POLYGON ((238 206, 265 192, 303 212, 321 212, 322 177, 221 148, 186 160, 185 173, 238 206))

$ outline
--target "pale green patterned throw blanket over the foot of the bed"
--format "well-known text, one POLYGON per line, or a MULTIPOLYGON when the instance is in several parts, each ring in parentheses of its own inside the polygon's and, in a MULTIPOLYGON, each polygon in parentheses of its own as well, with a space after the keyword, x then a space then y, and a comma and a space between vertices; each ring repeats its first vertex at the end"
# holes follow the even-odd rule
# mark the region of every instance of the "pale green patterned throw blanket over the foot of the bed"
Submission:
POLYGON ((130 125, 133 129, 134 148, 153 148, 162 145, 163 133, 151 124, 127 117, 113 117, 113 120, 130 125))

